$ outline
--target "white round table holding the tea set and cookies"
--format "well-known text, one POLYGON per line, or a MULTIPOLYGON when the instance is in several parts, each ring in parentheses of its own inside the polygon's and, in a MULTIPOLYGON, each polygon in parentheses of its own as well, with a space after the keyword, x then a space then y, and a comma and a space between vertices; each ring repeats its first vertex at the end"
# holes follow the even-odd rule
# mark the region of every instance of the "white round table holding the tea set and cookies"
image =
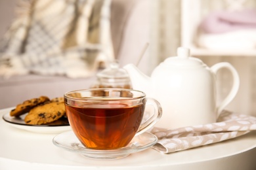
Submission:
MULTIPOLYGON (((0 116, 9 109, 0 110, 0 116)), ((150 148, 119 160, 91 160, 58 148, 56 134, 17 129, 0 120, 0 169, 256 169, 256 131, 172 154, 150 148)))

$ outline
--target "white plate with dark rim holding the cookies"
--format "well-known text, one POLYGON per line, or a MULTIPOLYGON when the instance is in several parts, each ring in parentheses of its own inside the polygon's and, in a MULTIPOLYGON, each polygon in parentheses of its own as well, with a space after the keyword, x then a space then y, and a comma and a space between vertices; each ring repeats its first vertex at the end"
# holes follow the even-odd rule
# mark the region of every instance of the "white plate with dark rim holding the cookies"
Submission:
POLYGON ((22 114, 20 117, 16 118, 10 116, 10 111, 13 108, 3 110, 3 120, 9 125, 16 127, 18 129, 24 129, 26 131, 32 131, 35 133, 61 133, 63 131, 69 131, 71 129, 69 124, 61 125, 28 125, 24 122, 26 114, 22 114))

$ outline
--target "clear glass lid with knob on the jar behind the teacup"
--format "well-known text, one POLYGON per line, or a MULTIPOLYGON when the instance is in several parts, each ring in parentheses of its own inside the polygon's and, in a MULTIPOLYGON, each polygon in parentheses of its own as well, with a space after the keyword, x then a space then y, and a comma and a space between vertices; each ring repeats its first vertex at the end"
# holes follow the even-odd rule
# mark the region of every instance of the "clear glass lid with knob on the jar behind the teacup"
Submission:
POLYGON ((125 69, 119 67, 117 61, 110 63, 110 68, 104 69, 96 76, 98 76, 98 78, 129 78, 128 73, 125 69))

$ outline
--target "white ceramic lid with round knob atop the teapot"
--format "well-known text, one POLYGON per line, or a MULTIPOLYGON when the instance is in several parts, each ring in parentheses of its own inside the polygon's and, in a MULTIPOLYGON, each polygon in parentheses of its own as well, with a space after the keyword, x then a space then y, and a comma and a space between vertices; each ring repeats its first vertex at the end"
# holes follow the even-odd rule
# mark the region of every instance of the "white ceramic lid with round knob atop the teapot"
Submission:
POLYGON ((177 49, 177 56, 165 59, 164 63, 167 63, 168 65, 171 64, 172 66, 177 65, 186 67, 204 65, 202 60, 191 57, 189 48, 184 47, 179 47, 177 49))

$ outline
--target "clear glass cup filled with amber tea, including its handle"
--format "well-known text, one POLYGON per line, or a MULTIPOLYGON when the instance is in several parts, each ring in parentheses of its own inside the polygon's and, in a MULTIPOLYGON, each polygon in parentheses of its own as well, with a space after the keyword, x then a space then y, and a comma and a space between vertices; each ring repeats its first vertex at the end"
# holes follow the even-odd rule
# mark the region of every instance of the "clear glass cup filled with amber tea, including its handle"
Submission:
POLYGON ((64 94, 64 102, 76 137, 87 148, 98 150, 127 146, 135 135, 153 127, 162 113, 156 99, 123 88, 75 90, 64 94), (144 114, 146 107, 151 109, 144 114))

